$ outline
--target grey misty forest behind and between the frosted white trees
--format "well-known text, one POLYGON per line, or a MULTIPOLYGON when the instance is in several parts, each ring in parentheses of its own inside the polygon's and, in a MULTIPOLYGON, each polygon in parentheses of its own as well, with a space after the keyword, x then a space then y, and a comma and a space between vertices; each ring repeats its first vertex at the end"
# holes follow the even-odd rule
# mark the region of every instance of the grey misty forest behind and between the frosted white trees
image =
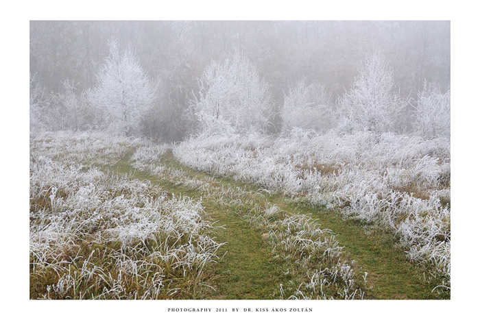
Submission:
MULTIPOLYGON (((219 73, 238 56, 267 87, 269 134, 285 131, 282 112, 295 93, 322 91, 327 113, 336 113, 372 57, 392 76, 388 92, 406 101, 400 133, 412 130, 406 123, 422 90, 450 88, 449 21, 30 21, 31 135, 106 128, 93 92, 106 81, 112 45, 130 54, 154 95, 128 134, 167 141, 198 132, 197 107, 212 86, 202 84, 206 69, 216 64, 219 73)), ((330 130, 338 119, 318 122, 330 130)))

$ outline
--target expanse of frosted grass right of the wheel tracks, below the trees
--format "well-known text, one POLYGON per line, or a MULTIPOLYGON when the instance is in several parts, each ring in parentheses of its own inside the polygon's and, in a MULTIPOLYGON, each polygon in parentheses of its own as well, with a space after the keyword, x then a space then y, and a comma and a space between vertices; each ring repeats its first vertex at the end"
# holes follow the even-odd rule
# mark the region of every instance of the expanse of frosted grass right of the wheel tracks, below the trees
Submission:
POLYGON ((448 138, 298 129, 279 138, 200 134, 173 153, 194 169, 379 223, 398 234, 413 261, 440 270, 450 286, 448 138))

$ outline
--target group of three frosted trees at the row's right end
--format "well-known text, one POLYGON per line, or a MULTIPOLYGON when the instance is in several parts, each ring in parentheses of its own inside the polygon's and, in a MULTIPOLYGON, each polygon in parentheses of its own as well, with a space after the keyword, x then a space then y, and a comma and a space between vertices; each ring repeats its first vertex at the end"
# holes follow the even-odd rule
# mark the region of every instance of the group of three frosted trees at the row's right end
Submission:
POLYGON ((384 56, 374 53, 359 67, 350 90, 331 100, 320 84, 298 82, 285 97, 282 112, 284 130, 338 133, 411 132, 424 138, 450 136, 450 90, 424 84, 417 99, 400 97, 394 90, 392 69, 384 56))

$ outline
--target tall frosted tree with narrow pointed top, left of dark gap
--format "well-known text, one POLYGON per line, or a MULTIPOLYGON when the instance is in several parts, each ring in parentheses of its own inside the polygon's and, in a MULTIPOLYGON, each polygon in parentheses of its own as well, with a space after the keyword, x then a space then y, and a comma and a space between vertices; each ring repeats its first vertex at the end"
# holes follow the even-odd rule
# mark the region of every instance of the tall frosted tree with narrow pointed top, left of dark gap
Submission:
POLYGON ((120 52, 117 42, 111 41, 110 56, 97 79, 89 100, 103 112, 108 129, 123 136, 138 135, 141 118, 154 101, 154 88, 132 48, 120 52))

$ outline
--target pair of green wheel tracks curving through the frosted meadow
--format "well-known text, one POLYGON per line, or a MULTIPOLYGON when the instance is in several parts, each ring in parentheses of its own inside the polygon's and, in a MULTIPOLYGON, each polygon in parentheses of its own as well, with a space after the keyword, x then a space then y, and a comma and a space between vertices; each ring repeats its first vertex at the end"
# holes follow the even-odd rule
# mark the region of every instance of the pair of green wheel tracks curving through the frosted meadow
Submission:
MULTIPOLYGON (((214 177, 184 167, 171 153, 163 159, 167 167, 180 169, 197 180, 214 181, 218 186, 258 190, 259 186, 214 177)), ((115 171, 132 172, 132 177, 150 180, 160 184, 169 193, 181 194, 193 199, 203 197, 202 204, 208 217, 216 226, 217 242, 222 245, 217 264, 206 269, 206 277, 211 279, 215 291, 208 291, 204 299, 278 299, 278 286, 288 282, 289 276, 278 263, 274 262, 272 250, 267 246, 258 228, 250 225, 239 214, 238 206, 219 205, 205 198, 195 188, 173 184, 142 171, 135 171, 128 157, 117 163, 115 171)), ((371 225, 361 225, 345 221, 336 212, 322 208, 312 208, 309 204, 285 198, 282 195, 265 197, 269 204, 287 212, 311 214, 322 229, 332 230, 350 260, 357 261, 355 272, 367 276, 367 286, 371 286, 365 299, 435 299, 431 284, 426 284, 423 271, 407 260, 403 249, 396 247, 394 236, 371 225)))

